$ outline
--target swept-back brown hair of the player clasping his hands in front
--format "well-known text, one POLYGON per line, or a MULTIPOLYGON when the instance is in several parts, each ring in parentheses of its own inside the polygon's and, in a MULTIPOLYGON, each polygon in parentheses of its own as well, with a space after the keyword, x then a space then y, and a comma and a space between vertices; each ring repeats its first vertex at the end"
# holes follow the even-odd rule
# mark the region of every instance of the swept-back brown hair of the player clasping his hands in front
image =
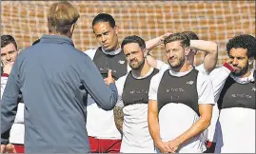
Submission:
POLYGON ((168 35, 167 38, 164 40, 164 44, 166 46, 167 43, 174 42, 174 41, 181 41, 183 48, 187 48, 190 46, 190 40, 188 39, 187 35, 181 32, 168 35))

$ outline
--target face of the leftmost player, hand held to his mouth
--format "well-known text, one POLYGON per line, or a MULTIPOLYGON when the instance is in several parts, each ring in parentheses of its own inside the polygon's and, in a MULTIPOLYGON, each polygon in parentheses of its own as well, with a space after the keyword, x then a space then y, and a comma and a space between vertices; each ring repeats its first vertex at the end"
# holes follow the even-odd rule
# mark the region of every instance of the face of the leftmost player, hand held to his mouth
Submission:
POLYGON ((3 65, 7 65, 8 63, 14 63, 16 57, 18 55, 18 50, 15 46, 10 43, 4 48, 1 48, 1 61, 3 65))

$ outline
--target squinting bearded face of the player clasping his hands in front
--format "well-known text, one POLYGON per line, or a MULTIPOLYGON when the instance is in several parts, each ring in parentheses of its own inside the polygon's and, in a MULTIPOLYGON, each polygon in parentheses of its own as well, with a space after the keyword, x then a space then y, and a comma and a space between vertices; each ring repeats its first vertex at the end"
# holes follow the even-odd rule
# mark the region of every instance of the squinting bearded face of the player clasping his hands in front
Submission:
POLYGON ((181 41, 167 43, 166 52, 170 67, 181 67, 185 63, 185 49, 182 47, 181 41))

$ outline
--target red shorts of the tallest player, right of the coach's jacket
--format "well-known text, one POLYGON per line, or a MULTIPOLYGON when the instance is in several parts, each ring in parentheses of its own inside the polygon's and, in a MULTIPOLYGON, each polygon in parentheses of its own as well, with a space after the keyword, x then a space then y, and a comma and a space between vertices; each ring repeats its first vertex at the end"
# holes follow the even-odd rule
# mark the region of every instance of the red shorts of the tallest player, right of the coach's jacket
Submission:
POLYGON ((119 153, 121 140, 96 139, 89 137, 91 153, 119 153))

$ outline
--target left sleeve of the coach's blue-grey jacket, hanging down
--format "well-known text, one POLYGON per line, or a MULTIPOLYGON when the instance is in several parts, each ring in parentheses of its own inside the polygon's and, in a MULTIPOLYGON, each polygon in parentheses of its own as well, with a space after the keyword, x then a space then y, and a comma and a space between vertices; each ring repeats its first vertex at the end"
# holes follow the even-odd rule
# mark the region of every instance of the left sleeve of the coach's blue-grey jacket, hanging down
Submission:
POLYGON ((1 100, 1 144, 8 144, 19 101, 18 64, 15 62, 1 100))

